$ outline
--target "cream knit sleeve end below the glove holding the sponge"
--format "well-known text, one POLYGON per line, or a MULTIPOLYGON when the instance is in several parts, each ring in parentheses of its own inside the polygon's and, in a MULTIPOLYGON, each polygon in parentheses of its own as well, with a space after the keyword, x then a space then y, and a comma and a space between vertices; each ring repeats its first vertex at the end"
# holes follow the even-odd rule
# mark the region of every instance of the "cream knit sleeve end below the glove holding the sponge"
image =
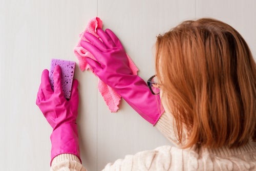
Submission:
POLYGON ((52 161, 50 171, 87 171, 82 166, 77 156, 72 154, 60 154, 52 161))

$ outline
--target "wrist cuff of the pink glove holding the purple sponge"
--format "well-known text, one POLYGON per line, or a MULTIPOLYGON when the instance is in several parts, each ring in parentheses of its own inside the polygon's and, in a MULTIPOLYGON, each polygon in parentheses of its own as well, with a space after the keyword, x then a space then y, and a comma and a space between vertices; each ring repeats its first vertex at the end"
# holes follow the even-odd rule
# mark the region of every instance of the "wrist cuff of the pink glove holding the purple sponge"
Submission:
POLYGON ((50 165, 53 158, 60 154, 76 155, 81 162, 76 123, 61 124, 52 132, 50 139, 52 142, 50 165))

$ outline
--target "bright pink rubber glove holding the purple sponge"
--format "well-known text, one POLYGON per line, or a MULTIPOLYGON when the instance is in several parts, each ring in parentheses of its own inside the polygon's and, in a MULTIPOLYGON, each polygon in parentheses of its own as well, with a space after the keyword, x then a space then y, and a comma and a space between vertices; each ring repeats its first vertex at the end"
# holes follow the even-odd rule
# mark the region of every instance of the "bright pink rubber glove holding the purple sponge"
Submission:
MULTIPOLYGON (((49 71, 42 71, 41 84, 37 93, 36 105, 53 128, 51 163, 60 154, 73 154, 80 159, 76 118, 78 114, 78 81, 74 79, 71 97, 64 97, 61 87, 61 69, 54 68, 54 91, 49 80, 49 71)), ((81 159, 80 159, 81 161, 81 159)), ((51 164, 50 164, 51 165, 51 164)))

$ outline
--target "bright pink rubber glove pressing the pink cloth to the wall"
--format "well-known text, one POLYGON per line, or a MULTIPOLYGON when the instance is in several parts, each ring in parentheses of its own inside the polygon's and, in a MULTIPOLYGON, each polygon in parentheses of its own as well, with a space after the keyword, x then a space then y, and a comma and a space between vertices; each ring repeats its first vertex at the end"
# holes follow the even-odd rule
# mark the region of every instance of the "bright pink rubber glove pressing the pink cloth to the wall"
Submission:
POLYGON ((91 33, 84 36, 90 41, 81 41, 81 46, 90 51, 97 61, 87 57, 93 72, 112 87, 145 120, 155 125, 161 114, 159 95, 153 95, 145 81, 132 74, 124 48, 117 36, 110 30, 97 29, 101 42, 91 33))

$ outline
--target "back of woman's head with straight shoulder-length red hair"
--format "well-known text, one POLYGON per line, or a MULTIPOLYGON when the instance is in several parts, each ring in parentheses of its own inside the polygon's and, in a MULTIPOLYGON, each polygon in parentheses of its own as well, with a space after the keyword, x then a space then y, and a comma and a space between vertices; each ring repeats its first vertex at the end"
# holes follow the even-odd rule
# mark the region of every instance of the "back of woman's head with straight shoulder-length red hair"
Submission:
POLYGON ((231 26, 202 18, 159 35, 156 73, 183 147, 256 141, 256 64, 231 26))

